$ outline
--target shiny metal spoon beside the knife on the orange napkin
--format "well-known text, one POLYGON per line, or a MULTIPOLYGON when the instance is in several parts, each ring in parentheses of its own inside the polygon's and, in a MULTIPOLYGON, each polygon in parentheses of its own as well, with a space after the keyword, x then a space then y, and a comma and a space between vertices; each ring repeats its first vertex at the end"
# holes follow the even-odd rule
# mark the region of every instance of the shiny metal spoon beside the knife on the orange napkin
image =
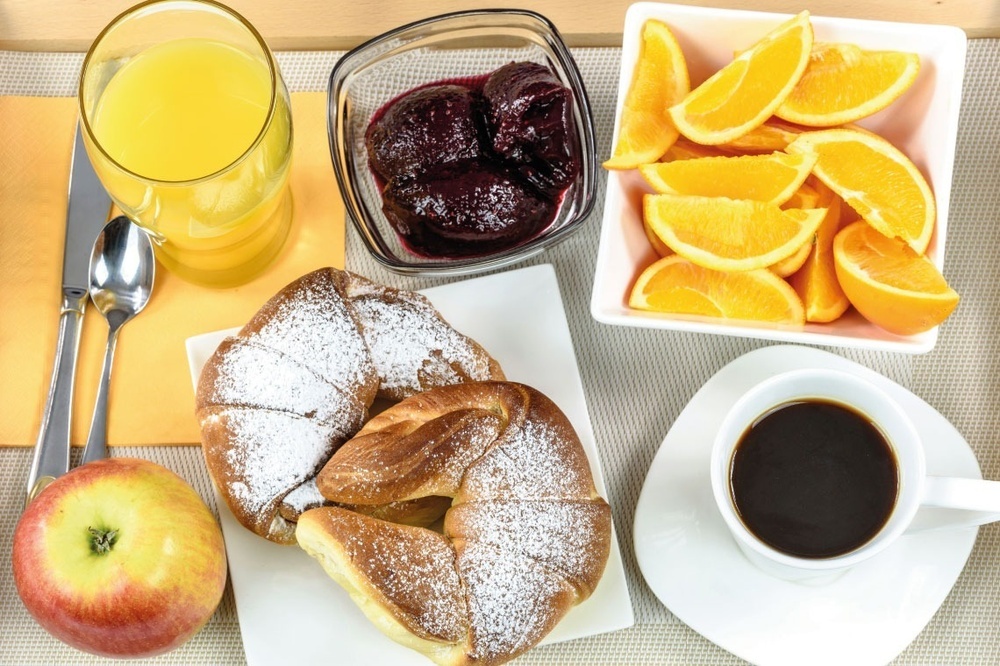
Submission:
POLYGON ((108 346, 83 463, 107 456, 108 385, 118 331, 146 307, 153 290, 155 266, 149 236, 124 215, 108 222, 94 243, 90 256, 90 298, 108 321, 108 346))

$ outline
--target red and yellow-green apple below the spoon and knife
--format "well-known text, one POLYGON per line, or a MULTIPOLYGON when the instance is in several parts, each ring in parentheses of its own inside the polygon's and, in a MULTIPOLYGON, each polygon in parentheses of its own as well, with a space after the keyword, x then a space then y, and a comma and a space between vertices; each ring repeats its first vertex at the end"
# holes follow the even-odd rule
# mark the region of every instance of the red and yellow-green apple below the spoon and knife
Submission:
POLYGON ((14 582, 31 615, 75 648, 147 657, 186 642, 222 598, 211 511, 155 463, 109 458, 52 482, 14 532, 14 582))

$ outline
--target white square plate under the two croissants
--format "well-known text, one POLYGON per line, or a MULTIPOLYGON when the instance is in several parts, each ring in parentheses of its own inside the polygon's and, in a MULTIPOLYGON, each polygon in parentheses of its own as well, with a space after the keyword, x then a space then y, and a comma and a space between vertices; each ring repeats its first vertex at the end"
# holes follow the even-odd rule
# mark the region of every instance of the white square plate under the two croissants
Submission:
MULTIPOLYGON (((590 458, 598 492, 607 497, 576 353, 552 266, 456 282, 422 293, 456 329, 483 345, 510 380, 534 386, 559 405, 590 458)), ((196 386, 205 361, 219 342, 236 330, 188 339, 191 381, 196 386)), ((303 550, 256 536, 236 521, 221 498, 218 505, 249 664, 429 663, 423 655, 376 629, 303 550), (282 628, 294 628, 295 632, 282 628)), ((632 602, 616 535, 612 535, 611 543, 604 577, 593 596, 573 608, 543 644, 632 626, 632 602)))

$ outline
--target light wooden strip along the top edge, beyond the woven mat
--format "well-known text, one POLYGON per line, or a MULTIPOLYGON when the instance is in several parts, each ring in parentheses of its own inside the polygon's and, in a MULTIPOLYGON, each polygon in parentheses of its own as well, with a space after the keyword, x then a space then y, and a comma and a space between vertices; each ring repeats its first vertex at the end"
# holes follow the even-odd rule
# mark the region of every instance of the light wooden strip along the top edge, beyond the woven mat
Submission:
MULTIPOLYGON (((90 41, 134 0, 0 0, 0 49, 85 51, 90 41)), ((365 37, 426 16, 460 9, 518 7, 541 11, 572 46, 621 43, 631 0, 227 0, 267 37, 272 48, 346 49, 365 37)), ((681 0, 681 5, 757 9, 817 16, 941 23, 964 28, 970 37, 1000 37, 1000 7, 991 0, 681 0)))

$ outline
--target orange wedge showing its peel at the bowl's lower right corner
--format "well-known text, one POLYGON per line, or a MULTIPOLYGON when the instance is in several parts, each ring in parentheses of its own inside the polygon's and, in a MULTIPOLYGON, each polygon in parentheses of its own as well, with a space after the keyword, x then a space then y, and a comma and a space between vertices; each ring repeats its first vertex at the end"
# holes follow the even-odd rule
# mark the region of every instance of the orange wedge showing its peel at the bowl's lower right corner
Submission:
POLYGON ((866 222, 837 233, 834 265, 840 286, 865 319, 898 335, 934 328, 958 305, 931 261, 866 222))

